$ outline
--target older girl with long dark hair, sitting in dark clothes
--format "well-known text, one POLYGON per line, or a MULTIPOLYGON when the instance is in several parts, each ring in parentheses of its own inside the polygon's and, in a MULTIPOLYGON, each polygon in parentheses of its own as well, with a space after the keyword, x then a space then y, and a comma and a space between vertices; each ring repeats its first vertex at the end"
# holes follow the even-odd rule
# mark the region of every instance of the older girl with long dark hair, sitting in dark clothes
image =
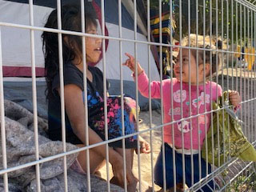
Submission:
MULTIPOLYGON (((81 32, 80 6, 62 6, 62 30, 81 32)), ((93 14, 85 11, 85 26, 87 34, 97 34, 97 22, 93 14)), ((47 28, 58 28, 57 10, 53 10, 46 22, 47 28)), ((49 138, 62 140, 62 115, 60 97, 60 75, 58 34, 44 31, 42 34, 45 54, 48 125, 49 138)), ((102 54, 102 39, 86 37, 86 63, 98 62, 102 54)), ((88 107, 88 137, 89 143, 95 144, 105 140, 104 102, 103 102, 103 75, 97 67, 84 66, 82 62, 82 38, 76 35, 62 34, 63 47, 63 75, 64 75, 64 102, 66 142, 79 147, 86 144, 86 114, 83 98, 84 79, 83 69, 86 67, 86 93, 88 107)), ((108 88, 108 87, 106 87, 108 88)), ((125 134, 132 134, 136 130, 136 123, 132 108, 134 104, 125 98, 125 134)), ((122 136, 122 115, 120 98, 107 98, 108 139, 122 136), (118 107, 111 105, 118 103, 118 107)), ((141 138, 142 139, 142 138, 141 138)), ((109 161, 113 168, 114 177, 110 180, 119 186, 124 185, 127 178, 128 191, 134 191, 138 178, 132 173, 134 150, 137 147, 137 136, 126 138, 126 175, 123 174, 122 140, 109 143, 109 161)), ((150 153, 150 146, 143 139, 140 140, 142 153, 150 153)), ((105 163, 106 146, 97 146, 90 149, 90 173, 95 174, 105 163)), ((77 165, 80 172, 86 172, 86 151, 78 154, 77 165)))

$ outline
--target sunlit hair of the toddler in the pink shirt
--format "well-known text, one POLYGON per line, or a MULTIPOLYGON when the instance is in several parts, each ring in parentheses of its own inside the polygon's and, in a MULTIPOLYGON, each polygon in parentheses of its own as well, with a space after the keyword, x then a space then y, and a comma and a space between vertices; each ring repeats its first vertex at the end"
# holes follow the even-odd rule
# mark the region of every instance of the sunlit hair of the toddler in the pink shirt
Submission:
MULTIPOLYGON (((190 34, 190 45, 189 45, 189 36, 182 39, 182 46, 198 47, 202 50, 191 49, 191 54, 194 58, 197 58, 198 53, 198 62, 199 65, 204 61, 204 52, 205 52, 205 61, 206 63, 211 63, 211 73, 218 75, 218 67, 222 64, 222 58, 216 48, 222 49, 222 41, 214 42, 210 39, 209 36, 203 37, 202 35, 190 34), (211 62, 210 62, 211 60, 211 62)), ((210 74, 207 75, 207 77, 210 74)), ((207 78, 206 77, 206 78, 207 78)))

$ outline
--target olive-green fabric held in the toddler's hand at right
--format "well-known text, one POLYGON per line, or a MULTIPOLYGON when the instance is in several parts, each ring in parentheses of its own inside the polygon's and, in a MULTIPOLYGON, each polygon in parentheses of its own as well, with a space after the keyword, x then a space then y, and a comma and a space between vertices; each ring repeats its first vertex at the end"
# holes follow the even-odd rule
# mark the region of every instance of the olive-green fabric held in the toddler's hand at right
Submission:
POLYGON ((223 98, 219 97, 218 103, 213 103, 213 110, 218 110, 222 107, 224 107, 224 110, 218 110, 218 112, 214 113, 213 127, 210 127, 208 130, 202 146, 202 158, 206 159, 207 143, 208 162, 213 164, 214 157, 215 166, 222 166, 229 157, 237 157, 245 161, 256 162, 256 150, 242 133, 242 121, 238 119, 236 114, 234 114, 234 111, 230 108, 230 102, 227 99, 227 95, 228 91, 225 91, 223 93, 223 98), (222 99, 224 99, 224 102, 222 102, 222 99), (214 135, 214 139, 212 139, 212 135, 214 135), (212 148, 214 148, 214 153, 212 148), (218 153, 220 162, 218 162, 218 153))

